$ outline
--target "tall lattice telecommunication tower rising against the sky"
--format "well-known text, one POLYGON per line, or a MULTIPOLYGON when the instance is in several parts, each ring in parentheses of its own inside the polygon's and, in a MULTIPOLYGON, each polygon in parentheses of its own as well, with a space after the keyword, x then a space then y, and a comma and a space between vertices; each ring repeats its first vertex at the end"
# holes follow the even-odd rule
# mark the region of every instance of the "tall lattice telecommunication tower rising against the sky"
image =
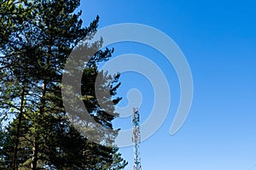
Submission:
POLYGON ((134 143, 134 166, 133 170, 142 170, 141 157, 139 151, 139 144, 141 143, 141 133, 140 133, 140 115, 137 108, 133 109, 132 115, 132 142, 134 143))

